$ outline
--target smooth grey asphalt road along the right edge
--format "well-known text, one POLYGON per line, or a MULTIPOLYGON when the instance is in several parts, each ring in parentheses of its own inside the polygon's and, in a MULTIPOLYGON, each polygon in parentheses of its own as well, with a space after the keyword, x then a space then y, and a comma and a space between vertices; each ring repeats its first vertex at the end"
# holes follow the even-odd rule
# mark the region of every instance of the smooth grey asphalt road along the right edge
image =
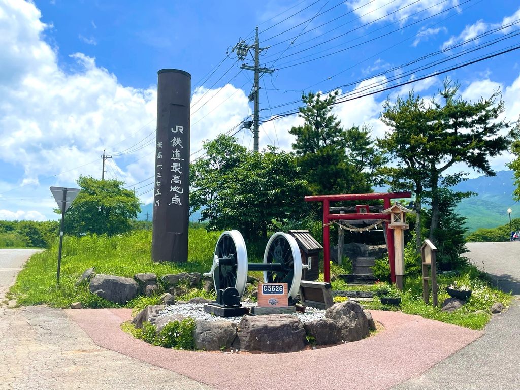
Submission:
MULTIPOLYGON (((520 242, 470 243, 467 257, 504 291, 520 294, 520 242)), ((518 390, 520 301, 493 316, 484 336, 394 390, 518 390)))

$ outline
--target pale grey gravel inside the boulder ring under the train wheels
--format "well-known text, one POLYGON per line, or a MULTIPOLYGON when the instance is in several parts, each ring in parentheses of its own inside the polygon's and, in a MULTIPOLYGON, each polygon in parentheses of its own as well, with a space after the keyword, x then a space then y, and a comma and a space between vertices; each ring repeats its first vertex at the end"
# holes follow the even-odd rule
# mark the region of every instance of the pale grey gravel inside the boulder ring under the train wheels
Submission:
MULTIPOLYGON (((181 314, 186 317, 192 317, 196 320, 206 320, 206 321, 231 321, 235 323, 239 323, 243 316, 240 317, 218 317, 211 315, 210 313, 206 313, 203 308, 204 304, 202 303, 183 303, 167 306, 159 316, 170 316, 173 314, 181 314)), ((246 303, 243 302, 242 306, 244 307, 253 307, 256 306, 256 303, 246 303)), ((291 314, 292 316, 296 316, 300 318, 300 321, 303 323, 309 321, 316 321, 325 316, 325 310, 314 309, 312 307, 306 307, 305 313, 296 313, 291 314)))

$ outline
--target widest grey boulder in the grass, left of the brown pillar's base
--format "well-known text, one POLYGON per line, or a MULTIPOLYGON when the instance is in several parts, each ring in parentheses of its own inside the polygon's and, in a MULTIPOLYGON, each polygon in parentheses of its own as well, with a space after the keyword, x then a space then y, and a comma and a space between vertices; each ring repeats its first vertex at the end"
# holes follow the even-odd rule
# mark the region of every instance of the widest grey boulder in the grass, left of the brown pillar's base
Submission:
POLYGON ((96 275, 88 286, 93 294, 107 301, 125 304, 136 297, 139 285, 134 279, 113 275, 96 275))

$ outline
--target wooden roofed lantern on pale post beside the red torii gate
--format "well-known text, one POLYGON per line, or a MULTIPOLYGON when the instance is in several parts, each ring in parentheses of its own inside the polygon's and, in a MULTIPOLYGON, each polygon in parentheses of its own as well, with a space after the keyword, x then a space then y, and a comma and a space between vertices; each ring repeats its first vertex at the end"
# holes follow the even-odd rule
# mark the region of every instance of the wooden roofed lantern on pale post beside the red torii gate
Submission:
POLYGON ((409 228, 406 223, 406 213, 413 213, 413 211, 395 202, 393 206, 383 210, 383 213, 390 214, 390 223, 387 226, 394 230, 395 281, 397 288, 402 290, 402 277, 405 275, 405 234, 403 230, 409 228))

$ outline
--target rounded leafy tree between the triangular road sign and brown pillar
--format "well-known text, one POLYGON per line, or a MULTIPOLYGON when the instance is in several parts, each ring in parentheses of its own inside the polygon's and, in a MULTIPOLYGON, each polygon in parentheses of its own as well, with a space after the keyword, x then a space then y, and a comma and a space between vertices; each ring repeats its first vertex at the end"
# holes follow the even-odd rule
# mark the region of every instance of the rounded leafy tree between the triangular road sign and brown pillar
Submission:
POLYGON ((77 184, 81 192, 65 217, 68 233, 112 236, 132 229, 132 220, 137 218, 141 207, 135 192, 123 188, 123 181, 80 176, 77 184))

